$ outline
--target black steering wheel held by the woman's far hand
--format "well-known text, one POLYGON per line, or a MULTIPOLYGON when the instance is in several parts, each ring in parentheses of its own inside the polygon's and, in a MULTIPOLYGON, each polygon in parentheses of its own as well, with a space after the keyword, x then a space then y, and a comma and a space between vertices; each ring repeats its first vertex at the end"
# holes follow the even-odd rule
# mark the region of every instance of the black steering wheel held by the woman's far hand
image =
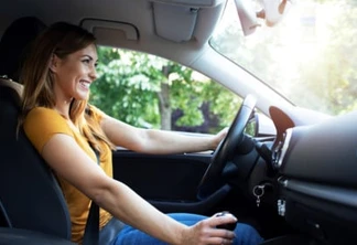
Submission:
POLYGON ((244 141, 244 130, 253 113, 256 102, 257 99, 252 95, 248 95, 244 99, 227 136, 215 150, 210 163, 198 184, 197 195, 199 199, 209 196, 220 187, 221 172, 244 141))

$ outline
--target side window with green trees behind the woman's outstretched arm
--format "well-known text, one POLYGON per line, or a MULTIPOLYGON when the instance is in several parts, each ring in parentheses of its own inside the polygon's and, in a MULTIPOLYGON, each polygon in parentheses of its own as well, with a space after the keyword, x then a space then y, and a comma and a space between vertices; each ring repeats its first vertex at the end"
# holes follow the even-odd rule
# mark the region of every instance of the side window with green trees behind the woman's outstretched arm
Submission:
POLYGON ((220 84, 172 61, 104 46, 98 56, 90 103, 137 127, 215 134, 241 104, 220 84))

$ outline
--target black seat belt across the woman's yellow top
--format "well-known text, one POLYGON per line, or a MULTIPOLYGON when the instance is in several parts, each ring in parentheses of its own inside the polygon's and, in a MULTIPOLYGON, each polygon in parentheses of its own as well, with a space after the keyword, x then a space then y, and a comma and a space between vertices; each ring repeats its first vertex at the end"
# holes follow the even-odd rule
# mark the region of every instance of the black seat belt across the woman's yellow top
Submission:
MULTIPOLYGON (((100 164, 99 152, 91 147, 97 157, 97 163, 100 164)), ((99 206, 91 201, 87 224, 83 237, 83 245, 98 245, 99 244, 99 206)))

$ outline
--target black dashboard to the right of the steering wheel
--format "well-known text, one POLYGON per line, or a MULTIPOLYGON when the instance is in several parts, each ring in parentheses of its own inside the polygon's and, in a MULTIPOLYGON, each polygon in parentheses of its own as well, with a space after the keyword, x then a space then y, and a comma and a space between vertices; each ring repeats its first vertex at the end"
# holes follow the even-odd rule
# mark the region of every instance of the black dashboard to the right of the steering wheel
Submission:
POLYGON ((357 111, 314 117, 270 108, 281 216, 322 244, 356 244, 357 111))

